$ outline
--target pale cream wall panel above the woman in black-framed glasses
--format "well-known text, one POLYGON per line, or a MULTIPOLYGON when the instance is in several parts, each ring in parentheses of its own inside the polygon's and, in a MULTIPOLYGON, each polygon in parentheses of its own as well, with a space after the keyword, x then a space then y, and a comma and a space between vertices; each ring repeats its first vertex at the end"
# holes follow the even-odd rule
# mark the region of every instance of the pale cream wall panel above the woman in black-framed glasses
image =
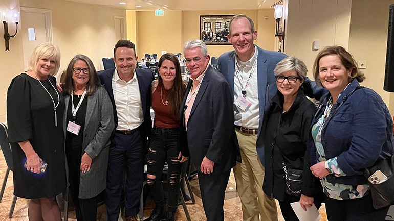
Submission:
POLYGON ((312 78, 312 65, 318 51, 312 50, 314 40, 320 48, 327 45, 348 47, 351 0, 290 0, 286 20, 284 53, 295 55, 307 64, 312 78))

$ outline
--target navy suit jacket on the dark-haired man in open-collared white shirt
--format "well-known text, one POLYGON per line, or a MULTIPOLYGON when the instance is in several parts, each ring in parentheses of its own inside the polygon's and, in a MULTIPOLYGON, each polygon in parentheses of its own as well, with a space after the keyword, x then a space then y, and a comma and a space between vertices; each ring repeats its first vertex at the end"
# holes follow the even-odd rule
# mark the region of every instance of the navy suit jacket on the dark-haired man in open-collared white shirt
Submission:
MULTIPOLYGON (((98 71, 101 84, 103 84, 107 89, 108 95, 110 95, 112 106, 114 108, 114 119, 115 119, 114 130, 118 126, 118 114, 116 112, 114 92, 112 89, 112 78, 114 75, 115 68, 98 71)), ((150 71, 150 69, 136 69, 136 74, 138 79, 138 86, 140 88, 142 114, 144 116, 144 122, 140 127, 140 133, 142 136, 142 141, 145 143, 146 137, 150 137, 150 133, 152 129, 152 119, 150 117, 150 99, 151 99, 150 84, 152 83, 154 76, 152 71, 150 71)))

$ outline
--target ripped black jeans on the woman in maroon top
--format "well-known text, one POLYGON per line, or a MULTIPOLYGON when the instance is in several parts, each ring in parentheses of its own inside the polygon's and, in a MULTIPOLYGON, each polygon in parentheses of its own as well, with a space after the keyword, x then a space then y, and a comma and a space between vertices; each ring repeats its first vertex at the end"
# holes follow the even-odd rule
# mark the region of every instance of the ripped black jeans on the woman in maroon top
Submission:
POLYGON ((161 185, 164 163, 168 164, 167 183, 168 199, 167 205, 177 207, 180 194, 180 174, 182 163, 178 159, 178 128, 158 128, 152 129, 150 146, 146 160, 148 163, 148 173, 146 183, 150 187, 152 198, 155 202, 164 201, 164 192, 161 185))

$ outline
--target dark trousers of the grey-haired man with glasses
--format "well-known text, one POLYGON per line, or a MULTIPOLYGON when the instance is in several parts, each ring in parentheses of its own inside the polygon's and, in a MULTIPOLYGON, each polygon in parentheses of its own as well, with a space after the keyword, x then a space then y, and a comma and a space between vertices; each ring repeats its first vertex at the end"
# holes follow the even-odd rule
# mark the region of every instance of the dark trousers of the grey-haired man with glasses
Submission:
POLYGON ((201 199, 203 200, 207 221, 223 221, 224 196, 231 170, 217 175, 201 173, 200 168, 198 168, 197 171, 199 175, 201 199))

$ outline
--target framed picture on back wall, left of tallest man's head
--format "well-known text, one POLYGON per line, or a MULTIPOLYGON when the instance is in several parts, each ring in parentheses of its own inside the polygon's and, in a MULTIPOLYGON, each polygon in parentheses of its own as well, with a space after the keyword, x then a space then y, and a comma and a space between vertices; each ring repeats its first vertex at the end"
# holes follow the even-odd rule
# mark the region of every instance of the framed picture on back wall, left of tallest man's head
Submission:
POLYGON ((228 26, 234 15, 200 15, 200 40, 205 44, 231 44, 228 26))

